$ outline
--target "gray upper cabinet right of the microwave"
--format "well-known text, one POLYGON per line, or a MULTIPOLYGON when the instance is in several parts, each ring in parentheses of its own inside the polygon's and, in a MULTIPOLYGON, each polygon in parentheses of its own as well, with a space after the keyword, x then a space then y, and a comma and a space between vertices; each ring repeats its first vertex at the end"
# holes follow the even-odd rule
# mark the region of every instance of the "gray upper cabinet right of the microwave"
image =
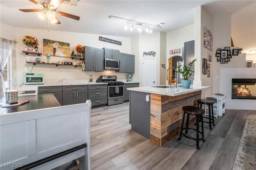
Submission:
POLYGON ((135 55, 120 53, 120 73, 134 73, 135 70, 135 55))

